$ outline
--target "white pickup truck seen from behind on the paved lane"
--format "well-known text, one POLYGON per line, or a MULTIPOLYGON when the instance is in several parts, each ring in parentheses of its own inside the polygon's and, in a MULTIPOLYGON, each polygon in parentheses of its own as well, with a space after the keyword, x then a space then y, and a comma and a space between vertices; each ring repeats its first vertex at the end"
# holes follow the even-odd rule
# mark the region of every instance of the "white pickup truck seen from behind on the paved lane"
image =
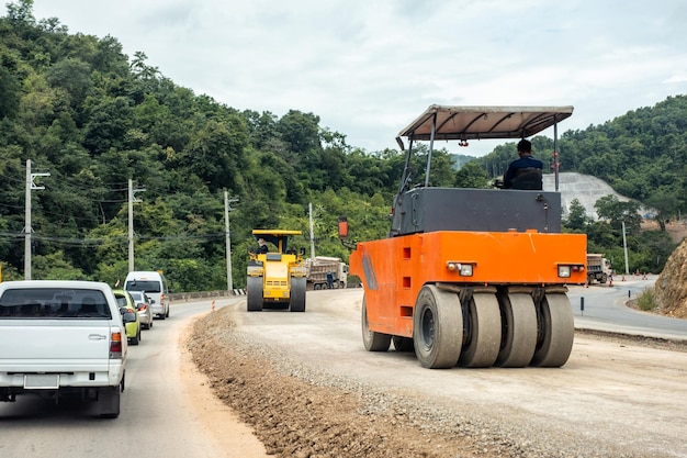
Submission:
MULTIPOLYGON (((129 316, 131 315, 131 316, 129 316)), ((103 417, 120 415, 126 369, 125 322, 109 284, 0 282, 0 401, 78 395, 103 417)))

